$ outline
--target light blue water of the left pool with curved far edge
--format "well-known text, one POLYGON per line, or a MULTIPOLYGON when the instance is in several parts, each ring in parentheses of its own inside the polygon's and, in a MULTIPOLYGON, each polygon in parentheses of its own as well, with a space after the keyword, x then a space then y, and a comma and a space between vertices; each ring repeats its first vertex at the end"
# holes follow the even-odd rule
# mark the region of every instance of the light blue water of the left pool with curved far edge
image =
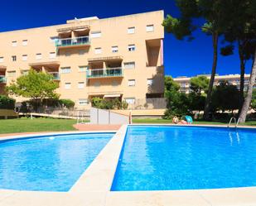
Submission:
POLYGON ((0 189, 68 191, 113 136, 0 141, 0 189))

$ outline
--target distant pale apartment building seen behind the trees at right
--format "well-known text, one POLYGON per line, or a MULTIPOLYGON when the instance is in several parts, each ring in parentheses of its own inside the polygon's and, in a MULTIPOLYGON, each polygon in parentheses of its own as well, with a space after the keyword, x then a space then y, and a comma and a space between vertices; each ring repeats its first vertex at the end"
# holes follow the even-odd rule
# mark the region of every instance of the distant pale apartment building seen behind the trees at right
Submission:
MULTIPOLYGON (((202 75, 202 74, 199 74, 197 76, 200 76, 200 75, 202 75)), ((203 75, 206 76, 208 79, 210 79, 210 74, 203 74, 203 75)), ((244 91, 246 91, 248 89, 249 76, 250 76, 249 74, 244 74, 244 91)), ((190 93, 191 78, 192 77, 181 76, 181 77, 174 78, 174 81, 176 81, 176 83, 180 84, 181 92, 190 93)), ((223 80, 228 81, 229 84, 236 85, 238 89, 240 87, 240 75, 239 74, 228 74, 228 75, 216 74, 214 85, 220 84, 220 81, 223 81, 223 80)))

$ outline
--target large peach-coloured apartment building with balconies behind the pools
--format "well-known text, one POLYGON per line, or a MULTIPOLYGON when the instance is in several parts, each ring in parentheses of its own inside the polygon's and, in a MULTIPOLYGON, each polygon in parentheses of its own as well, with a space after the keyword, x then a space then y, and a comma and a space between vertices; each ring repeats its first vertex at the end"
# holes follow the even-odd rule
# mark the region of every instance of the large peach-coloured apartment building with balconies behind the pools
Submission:
MULTIPOLYGON (((60 98, 161 98, 164 91, 163 11, 68 20, 0 33, 0 93, 36 69, 52 74, 60 98)), ((18 97, 17 102, 23 98, 18 97)))

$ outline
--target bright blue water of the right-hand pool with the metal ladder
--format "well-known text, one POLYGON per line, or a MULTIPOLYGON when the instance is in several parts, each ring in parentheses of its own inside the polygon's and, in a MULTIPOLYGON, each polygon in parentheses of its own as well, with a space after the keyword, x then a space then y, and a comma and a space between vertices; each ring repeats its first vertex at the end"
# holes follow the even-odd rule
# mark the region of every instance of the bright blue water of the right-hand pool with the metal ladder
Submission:
POLYGON ((256 186, 256 130, 128 127, 113 191, 256 186))

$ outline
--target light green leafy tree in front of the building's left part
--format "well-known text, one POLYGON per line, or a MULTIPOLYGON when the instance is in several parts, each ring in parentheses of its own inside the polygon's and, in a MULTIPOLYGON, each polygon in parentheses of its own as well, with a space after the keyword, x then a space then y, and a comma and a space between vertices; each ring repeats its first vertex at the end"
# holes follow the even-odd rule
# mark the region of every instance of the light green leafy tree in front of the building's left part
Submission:
POLYGON ((53 80, 51 74, 36 72, 30 69, 27 75, 23 75, 7 86, 7 92, 11 95, 31 98, 37 109, 42 105, 45 98, 59 98, 56 93, 58 84, 53 80))

